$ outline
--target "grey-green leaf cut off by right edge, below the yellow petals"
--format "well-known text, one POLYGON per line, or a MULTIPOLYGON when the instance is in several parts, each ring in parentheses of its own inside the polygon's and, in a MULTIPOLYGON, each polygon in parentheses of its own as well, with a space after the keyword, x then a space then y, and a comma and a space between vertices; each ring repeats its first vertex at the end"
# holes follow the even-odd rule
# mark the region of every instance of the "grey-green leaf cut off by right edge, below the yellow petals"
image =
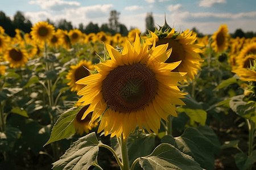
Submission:
POLYGON ((229 101, 230 108, 238 115, 256 121, 254 103, 243 101, 243 95, 234 96, 229 101))

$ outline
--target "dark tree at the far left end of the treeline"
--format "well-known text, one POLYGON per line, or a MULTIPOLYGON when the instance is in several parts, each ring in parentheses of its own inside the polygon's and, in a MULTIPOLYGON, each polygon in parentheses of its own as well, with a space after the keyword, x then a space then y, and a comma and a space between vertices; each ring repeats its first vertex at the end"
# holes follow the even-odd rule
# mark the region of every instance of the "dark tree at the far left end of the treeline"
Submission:
POLYGON ((13 25, 13 22, 11 22, 11 19, 5 15, 5 12, 0 11, 0 26, 5 29, 5 33, 7 35, 14 37, 15 36, 15 27, 13 25))

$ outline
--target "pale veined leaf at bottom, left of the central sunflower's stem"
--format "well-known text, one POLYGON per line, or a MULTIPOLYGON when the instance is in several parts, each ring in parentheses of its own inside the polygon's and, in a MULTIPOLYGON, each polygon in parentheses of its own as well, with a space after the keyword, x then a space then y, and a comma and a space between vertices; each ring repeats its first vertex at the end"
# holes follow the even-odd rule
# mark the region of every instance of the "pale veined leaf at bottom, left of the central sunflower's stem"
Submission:
POLYGON ((60 160, 53 163, 52 169, 88 169, 97 159, 99 143, 95 132, 80 138, 60 157, 60 160))

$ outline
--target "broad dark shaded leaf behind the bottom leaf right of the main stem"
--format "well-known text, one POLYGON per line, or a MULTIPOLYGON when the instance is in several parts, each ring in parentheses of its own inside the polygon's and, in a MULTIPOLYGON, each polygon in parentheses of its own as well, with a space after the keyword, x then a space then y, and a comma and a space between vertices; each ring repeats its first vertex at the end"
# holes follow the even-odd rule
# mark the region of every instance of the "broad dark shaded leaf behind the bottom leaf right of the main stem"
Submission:
MULTIPOLYGON (((204 132, 205 134, 205 132, 204 132)), ((180 137, 166 135, 162 142, 170 143, 184 154, 192 156, 202 168, 213 169, 214 167, 214 148, 216 146, 210 141, 209 134, 202 134, 196 128, 187 128, 180 137)))

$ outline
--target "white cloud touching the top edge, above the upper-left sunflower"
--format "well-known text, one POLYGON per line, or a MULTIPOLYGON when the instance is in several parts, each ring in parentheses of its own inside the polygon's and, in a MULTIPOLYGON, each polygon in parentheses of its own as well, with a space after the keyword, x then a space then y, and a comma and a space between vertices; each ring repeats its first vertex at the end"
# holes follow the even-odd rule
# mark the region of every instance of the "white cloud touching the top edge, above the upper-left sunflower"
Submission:
POLYGON ((61 11, 68 8, 77 8, 81 6, 79 2, 76 1, 62 1, 62 0, 36 0, 30 1, 29 4, 39 5, 44 10, 61 11))

